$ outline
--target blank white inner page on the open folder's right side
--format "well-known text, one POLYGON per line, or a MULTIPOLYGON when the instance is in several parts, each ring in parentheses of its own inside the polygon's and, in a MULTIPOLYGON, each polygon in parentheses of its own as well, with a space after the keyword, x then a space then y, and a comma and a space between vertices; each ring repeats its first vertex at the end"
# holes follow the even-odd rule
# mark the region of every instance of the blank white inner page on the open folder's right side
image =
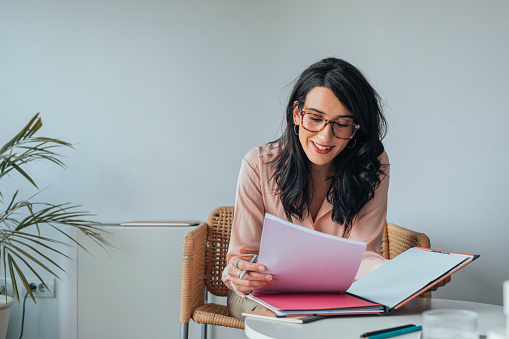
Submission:
POLYGON ((348 292, 393 308, 469 258, 411 248, 354 282, 348 292))

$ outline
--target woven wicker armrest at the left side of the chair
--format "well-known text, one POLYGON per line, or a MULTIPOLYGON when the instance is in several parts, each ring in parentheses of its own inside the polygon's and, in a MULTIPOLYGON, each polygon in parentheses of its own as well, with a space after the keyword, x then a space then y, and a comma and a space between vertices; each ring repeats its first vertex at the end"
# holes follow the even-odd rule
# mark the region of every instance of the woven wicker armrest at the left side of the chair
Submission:
POLYGON ((187 323, 194 310, 205 302, 205 243, 207 224, 202 223, 184 237, 180 322, 187 323))

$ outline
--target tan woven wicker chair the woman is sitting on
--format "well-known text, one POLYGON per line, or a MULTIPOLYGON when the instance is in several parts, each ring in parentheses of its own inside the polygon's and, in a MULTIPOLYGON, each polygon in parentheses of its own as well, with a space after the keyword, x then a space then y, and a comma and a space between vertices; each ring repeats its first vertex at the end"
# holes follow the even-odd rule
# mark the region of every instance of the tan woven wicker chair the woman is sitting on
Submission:
MULTIPOLYGON (((216 208, 202 223, 186 234, 182 258, 182 286, 180 300, 180 337, 188 338, 192 318, 202 325, 202 338, 207 338, 207 324, 244 329, 244 322, 231 317, 228 308, 207 302, 207 291, 225 297, 228 288, 221 280, 226 266, 230 242, 233 207, 216 208)), ((413 246, 430 248, 429 238, 423 233, 388 224, 384 229, 381 254, 392 259, 413 246)), ((422 296, 429 297, 430 292, 422 296)))

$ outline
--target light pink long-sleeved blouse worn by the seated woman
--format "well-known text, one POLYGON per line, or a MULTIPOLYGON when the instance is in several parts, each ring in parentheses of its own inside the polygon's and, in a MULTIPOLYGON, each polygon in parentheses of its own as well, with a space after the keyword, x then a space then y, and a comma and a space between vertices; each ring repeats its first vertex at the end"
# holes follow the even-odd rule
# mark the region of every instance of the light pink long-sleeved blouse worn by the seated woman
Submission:
MULTIPOLYGON (((233 256, 251 258, 258 254, 265 213, 287 220, 283 205, 279 199, 275 180, 272 177, 272 165, 268 164, 281 151, 277 145, 263 145, 250 150, 242 161, 237 182, 235 214, 233 217, 228 260, 233 256)), ((367 243, 356 279, 380 267, 387 260, 380 255, 380 246, 387 214, 387 192, 389 189, 389 159, 384 152, 380 156, 386 176, 382 180, 372 200, 361 209, 353 222, 350 239, 367 243)), ((327 198, 313 222, 309 214, 303 220, 292 218, 291 222, 310 229, 341 237, 343 225, 332 220, 332 204, 327 198)), ((326 258, 324 258, 326 259, 326 258)), ((331 263, 333 264, 333 263, 331 263)), ((228 267, 225 269, 225 273, 228 267)), ((230 286, 229 277, 223 274, 223 281, 230 286)))

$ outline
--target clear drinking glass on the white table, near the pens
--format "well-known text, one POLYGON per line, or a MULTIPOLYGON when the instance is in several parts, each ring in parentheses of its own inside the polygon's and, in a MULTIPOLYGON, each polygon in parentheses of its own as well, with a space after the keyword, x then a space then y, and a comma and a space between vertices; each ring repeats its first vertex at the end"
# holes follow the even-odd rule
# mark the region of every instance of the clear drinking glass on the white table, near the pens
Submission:
POLYGON ((422 339, 478 339, 478 316, 466 310, 422 313, 422 339))

